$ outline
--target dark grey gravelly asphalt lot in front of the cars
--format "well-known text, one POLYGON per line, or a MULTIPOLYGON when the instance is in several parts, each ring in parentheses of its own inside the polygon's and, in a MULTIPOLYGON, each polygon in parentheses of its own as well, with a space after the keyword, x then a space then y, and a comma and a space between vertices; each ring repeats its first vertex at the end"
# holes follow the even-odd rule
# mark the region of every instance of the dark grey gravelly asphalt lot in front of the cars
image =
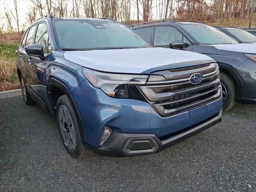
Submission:
POLYGON ((256 105, 158 154, 74 159, 57 122, 22 97, 0 100, 0 191, 256 191, 256 105))

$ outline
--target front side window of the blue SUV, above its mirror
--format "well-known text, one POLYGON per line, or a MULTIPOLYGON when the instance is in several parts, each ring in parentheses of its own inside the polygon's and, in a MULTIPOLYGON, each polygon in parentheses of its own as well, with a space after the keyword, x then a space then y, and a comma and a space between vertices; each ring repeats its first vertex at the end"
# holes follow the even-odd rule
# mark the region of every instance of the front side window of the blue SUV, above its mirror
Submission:
MULTIPOLYGON (((35 43, 39 43, 42 45, 45 54, 50 52, 48 49, 48 43, 49 43, 48 30, 45 23, 38 24, 35 43)), ((50 44, 49 44, 49 47, 50 47, 50 44)))

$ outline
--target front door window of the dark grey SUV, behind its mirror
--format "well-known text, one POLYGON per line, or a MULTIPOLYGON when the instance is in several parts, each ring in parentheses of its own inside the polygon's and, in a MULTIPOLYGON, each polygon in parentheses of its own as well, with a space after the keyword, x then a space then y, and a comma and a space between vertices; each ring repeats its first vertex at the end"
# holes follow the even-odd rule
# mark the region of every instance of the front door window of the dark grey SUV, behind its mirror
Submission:
POLYGON ((186 42, 185 46, 190 46, 190 42, 176 28, 169 26, 160 26, 155 28, 154 46, 169 48, 172 41, 186 42))

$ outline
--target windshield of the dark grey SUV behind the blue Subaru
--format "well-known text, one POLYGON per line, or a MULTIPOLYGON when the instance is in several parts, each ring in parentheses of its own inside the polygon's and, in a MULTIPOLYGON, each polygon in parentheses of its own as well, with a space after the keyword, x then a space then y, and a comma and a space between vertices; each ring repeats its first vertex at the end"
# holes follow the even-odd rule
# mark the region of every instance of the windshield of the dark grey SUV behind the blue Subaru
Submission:
POLYGON ((233 44, 236 40, 208 25, 184 24, 183 27, 201 44, 233 44))

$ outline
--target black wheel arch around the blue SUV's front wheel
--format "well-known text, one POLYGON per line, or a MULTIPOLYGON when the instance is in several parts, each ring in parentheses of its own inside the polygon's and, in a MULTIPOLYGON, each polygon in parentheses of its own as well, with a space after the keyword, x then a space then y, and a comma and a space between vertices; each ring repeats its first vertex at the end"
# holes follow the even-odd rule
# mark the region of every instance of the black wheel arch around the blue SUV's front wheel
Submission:
POLYGON ((71 92, 68 89, 68 87, 64 83, 60 82, 59 80, 57 80, 55 78, 50 78, 50 80, 48 81, 47 93, 48 93, 49 102, 52 107, 52 112, 53 112, 54 116, 56 116, 56 103, 57 103, 58 98, 64 94, 66 94, 68 96, 70 104, 72 105, 72 108, 73 108, 76 118, 77 118, 78 128, 79 128, 81 139, 82 139, 82 141, 84 141, 84 132, 83 132, 83 128, 82 128, 81 117, 80 117, 80 114, 78 112, 78 109, 76 107, 76 104, 71 96, 71 92))

